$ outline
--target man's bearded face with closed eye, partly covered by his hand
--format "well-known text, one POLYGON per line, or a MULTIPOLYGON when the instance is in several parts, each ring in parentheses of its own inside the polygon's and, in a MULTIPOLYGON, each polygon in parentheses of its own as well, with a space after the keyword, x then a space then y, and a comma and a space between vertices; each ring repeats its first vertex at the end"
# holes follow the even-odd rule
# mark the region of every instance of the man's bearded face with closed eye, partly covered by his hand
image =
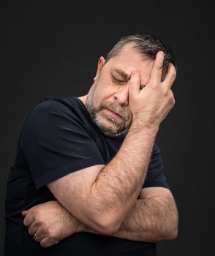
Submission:
POLYGON ((129 108, 129 79, 132 70, 139 70, 140 88, 150 77, 154 60, 138 53, 132 45, 124 48, 109 61, 101 57, 94 84, 88 92, 86 108, 92 121, 103 134, 116 137, 127 132, 132 124, 129 108))

